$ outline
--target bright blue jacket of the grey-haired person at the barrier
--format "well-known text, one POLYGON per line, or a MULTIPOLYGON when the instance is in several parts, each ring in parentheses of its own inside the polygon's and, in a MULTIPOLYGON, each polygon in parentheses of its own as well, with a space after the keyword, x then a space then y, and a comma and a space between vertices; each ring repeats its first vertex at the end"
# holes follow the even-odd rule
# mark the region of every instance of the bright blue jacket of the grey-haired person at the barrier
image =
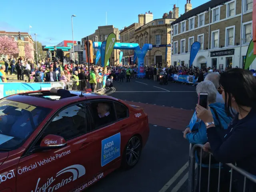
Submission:
MULTIPOLYGON (((222 127, 224 129, 227 129, 232 118, 227 116, 227 114, 225 112, 224 104, 212 103, 209 106, 216 110, 216 113, 218 114, 218 118, 220 120, 220 122, 218 122, 218 118, 216 117, 214 111, 212 109, 210 109, 212 112, 212 116, 213 116, 213 120, 214 120, 216 128, 221 129, 221 127, 220 127, 220 123, 221 123, 222 127)), ((187 126, 187 127, 189 127, 189 126, 187 126)), ((206 126, 203 121, 196 122, 195 125, 192 128, 190 128, 190 130, 191 130, 191 133, 186 134, 186 139, 190 143, 205 144, 206 142, 208 142, 208 138, 207 138, 207 134, 206 134, 206 126)), ((196 162, 198 162, 197 155, 196 155, 196 162)), ((202 166, 206 167, 206 165, 202 165, 202 166)))

